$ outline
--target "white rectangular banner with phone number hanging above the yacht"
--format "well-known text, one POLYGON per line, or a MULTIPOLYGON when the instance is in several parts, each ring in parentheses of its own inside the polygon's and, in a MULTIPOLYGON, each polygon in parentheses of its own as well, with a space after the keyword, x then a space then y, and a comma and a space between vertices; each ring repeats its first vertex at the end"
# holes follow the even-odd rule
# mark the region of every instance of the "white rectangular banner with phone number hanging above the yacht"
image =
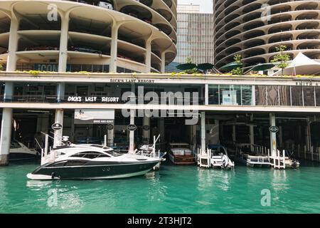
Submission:
POLYGON ((114 124, 114 109, 75 109, 75 124, 114 124))

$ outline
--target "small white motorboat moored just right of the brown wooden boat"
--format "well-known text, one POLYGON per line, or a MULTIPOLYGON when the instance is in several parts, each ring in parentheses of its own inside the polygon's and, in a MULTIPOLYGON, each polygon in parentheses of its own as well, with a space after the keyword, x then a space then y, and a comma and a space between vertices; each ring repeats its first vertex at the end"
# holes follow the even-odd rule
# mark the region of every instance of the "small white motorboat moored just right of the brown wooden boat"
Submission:
POLYGON ((210 165, 213 168, 230 169, 235 167, 235 162, 230 160, 228 152, 223 145, 208 145, 210 151, 210 165))

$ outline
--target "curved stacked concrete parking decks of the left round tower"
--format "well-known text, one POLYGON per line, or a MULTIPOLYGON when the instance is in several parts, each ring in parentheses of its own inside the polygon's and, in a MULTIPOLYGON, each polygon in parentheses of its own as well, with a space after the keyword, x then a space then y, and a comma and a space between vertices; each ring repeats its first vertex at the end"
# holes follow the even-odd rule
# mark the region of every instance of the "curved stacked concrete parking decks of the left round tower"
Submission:
MULTIPOLYGON (((159 12, 140 2, 117 1, 117 7, 121 7, 122 2, 134 4, 136 8, 140 7, 139 9, 143 9, 142 12, 146 13, 144 16, 151 15, 152 21, 147 19, 143 21, 135 16, 100 6, 58 0, 1 1, 0 18, 10 21, 12 16, 18 15, 16 55, 21 57, 18 58, 18 61, 38 61, 39 58, 34 55, 33 51, 38 51, 44 56, 43 59, 60 61, 60 56, 63 53, 60 39, 66 33, 68 35, 64 46, 68 47, 65 52, 68 54, 68 63, 73 59, 79 63, 82 58, 82 61, 90 58, 90 61, 96 59, 100 63, 102 57, 105 58, 104 64, 107 64, 107 61, 112 64, 111 58, 119 60, 117 62, 122 66, 129 66, 128 69, 132 71, 137 71, 136 69, 139 68, 138 72, 146 72, 152 68, 151 65, 156 66, 152 71, 159 72, 159 66, 161 66, 161 71, 164 71, 164 63, 170 63, 176 57, 176 31, 174 27, 159 12), (50 23, 46 21, 49 4, 57 4, 59 13, 58 20, 50 23), (158 24, 153 24, 154 21, 158 24), (112 48, 114 45, 116 45, 115 49, 112 48), (39 50, 37 46, 38 48, 40 46, 39 50), (55 48, 55 50, 41 50, 41 46, 46 46, 43 49, 49 47, 55 48), (75 47, 76 51, 70 50, 70 46, 75 47), (28 50, 28 48, 30 49, 28 50), (100 54, 90 53, 92 50, 93 52, 98 50, 100 54), (57 51, 58 56, 56 55, 57 51), (143 71, 142 66, 144 67, 143 71)), ((174 1, 172 3, 174 5, 174 1)), ((164 1, 161 1, 160 6, 163 6, 162 8, 166 10, 167 15, 170 15, 168 13, 170 12, 168 11, 169 6, 164 1)), ((174 16, 172 16, 172 20, 175 20, 174 16)), ((9 36, 8 32, 0 33, 1 52, 7 51, 6 48, 9 48, 9 36)), ((0 53, 0 55, 2 54, 0 53)), ((0 59, 6 61, 7 58, 0 59)))

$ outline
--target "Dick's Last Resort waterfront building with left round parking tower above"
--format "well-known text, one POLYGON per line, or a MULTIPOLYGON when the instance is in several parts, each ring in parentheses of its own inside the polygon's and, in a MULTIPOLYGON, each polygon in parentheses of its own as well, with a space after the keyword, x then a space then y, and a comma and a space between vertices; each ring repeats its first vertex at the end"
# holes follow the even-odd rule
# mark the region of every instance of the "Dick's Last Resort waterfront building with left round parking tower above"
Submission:
POLYGON ((250 143, 319 160, 319 77, 163 73, 176 1, 8 0, 0 18, 1 165, 13 140, 37 147, 41 133, 53 147, 68 136, 134 151, 160 135, 164 146, 250 143))

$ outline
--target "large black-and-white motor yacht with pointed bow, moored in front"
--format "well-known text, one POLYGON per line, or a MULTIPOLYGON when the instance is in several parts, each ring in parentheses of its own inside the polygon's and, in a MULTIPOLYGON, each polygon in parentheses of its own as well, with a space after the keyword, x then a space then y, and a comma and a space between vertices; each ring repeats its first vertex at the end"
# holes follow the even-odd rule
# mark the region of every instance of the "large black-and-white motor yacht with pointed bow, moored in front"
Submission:
POLYGON ((113 179, 145 175, 158 157, 119 153, 103 145, 65 145, 43 152, 31 180, 113 179))

